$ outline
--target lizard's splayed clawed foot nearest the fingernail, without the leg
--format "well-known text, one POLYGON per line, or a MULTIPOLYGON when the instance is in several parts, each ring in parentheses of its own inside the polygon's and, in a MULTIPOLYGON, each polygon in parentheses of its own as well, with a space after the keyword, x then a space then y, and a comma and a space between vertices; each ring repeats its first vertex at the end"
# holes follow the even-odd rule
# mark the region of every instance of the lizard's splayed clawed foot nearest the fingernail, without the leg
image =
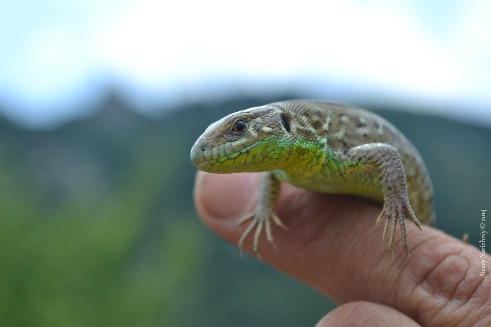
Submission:
POLYGON ((274 244, 273 233, 271 231, 271 220, 273 219, 273 222, 277 226, 280 226, 285 230, 288 230, 288 227, 281 222, 273 209, 260 210, 259 208, 256 208, 253 213, 250 213, 239 220, 239 222, 237 223, 238 227, 242 226, 246 221, 250 219, 252 219, 252 221, 247 226, 246 230, 242 233, 237 247, 239 248, 240 255, 242 255, 244 241, 246 240, 247 236, 252 232, 252 230, 256 228, 256 231, 254 232, 252 249, 256 253, 258 259, 261 260, 261 255, 259 254, 259 236, 261 236, 263 228, 266 231, 266 237, 268 238, 268 241, 271 243, 271 245, 273 245, 274 249, 277 249, 276 245, 274 244))

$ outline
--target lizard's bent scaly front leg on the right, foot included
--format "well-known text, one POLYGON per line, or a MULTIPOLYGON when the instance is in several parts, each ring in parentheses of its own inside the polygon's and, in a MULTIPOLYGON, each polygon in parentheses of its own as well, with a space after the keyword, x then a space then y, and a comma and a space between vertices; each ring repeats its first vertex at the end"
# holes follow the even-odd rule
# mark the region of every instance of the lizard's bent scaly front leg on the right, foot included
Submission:
POLYGON ((382 241, 385 240, 390 226, 389 251, 393 255, 396 224, 397 220, 399 220, 404 250, 409 254, 404 212, 409 214, 409 217, 419 229, 421 229, 421 224, 409 203, 406 173, 399 151, 389 144, 371 143, 353 147, 346 154, 355 167, 375 165, 378 168, 382 184, 383 208, 375 226, 385 218, 382 241))

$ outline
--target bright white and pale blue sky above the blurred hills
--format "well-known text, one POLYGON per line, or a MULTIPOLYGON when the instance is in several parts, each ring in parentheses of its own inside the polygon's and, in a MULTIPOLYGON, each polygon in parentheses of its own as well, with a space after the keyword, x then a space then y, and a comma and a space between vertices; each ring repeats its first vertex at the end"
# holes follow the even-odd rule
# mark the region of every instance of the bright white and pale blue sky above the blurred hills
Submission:
POLYGON ((0 0, 0 112, 42 128, 108 87, 149 115, 288 89, 491 126, 489 17, 487 0, 0 0))

